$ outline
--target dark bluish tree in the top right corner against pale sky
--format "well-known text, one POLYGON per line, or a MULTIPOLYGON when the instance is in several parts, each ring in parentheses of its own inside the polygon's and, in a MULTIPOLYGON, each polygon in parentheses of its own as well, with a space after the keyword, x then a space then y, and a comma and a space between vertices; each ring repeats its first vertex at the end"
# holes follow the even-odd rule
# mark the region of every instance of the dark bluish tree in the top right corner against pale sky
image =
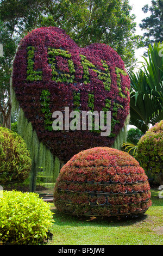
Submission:
POLYGON ((145 46, 153 44, 154 42, 163 41, 163 0, 152 0, 152 5, 149 7, 146 4, 142 11, 147 13, 151 12, 151 15, 142 20, 139 25, 146 32, 143 34, 145 37, 145 46))

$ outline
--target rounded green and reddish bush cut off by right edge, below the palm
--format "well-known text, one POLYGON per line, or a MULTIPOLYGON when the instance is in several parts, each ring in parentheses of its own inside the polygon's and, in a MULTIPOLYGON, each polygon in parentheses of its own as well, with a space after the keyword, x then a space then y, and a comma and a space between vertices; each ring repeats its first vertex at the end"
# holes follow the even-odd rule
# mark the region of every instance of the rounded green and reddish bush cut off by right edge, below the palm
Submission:
MULTIPOLYGON (((143 135, 137 144, 137 160, 151 174, 163 170, 163 120, 156 123, 143 135)), ((163 175, 162 175, 163 176, 163 175)), ((161 177, 161 176, 160 176, 161 177)))

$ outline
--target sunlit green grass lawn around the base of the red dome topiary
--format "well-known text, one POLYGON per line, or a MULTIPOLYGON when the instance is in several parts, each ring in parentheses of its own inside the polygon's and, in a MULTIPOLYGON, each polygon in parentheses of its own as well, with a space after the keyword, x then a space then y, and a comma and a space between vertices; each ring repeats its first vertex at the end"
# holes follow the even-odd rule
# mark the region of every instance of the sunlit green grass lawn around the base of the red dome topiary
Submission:
POLYGON ((139 218, 91 218, 55 209, 53 239, 48 245, 163 245, 163 198, 151 190, 152 206, 139 218))

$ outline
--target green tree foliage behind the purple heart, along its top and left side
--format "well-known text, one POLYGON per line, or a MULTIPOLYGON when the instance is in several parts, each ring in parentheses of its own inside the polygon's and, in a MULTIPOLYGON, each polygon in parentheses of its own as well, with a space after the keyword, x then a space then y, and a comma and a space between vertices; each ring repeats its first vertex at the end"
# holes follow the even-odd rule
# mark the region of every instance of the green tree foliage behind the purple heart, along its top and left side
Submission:
POLYGON ((12 59, 20 40, 38 27, 65 29, 79 46, 92 42, 108 44, 124 60, 127 68, 135 65, 135 48, 141 45, 135 35, 135 15, 128 0, 0 0, 0 123, 10 129, 10 77, 12 59), (4 100, 5 99, 5 100, 4 100))

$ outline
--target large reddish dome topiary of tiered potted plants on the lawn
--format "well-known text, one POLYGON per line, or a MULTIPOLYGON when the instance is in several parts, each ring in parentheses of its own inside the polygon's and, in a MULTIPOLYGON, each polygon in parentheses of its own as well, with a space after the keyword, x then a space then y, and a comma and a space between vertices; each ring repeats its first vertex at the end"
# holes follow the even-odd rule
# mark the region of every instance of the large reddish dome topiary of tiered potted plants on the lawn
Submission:
POLYGON ((97 147, 74 155, 62 167, 54 204, 74 215, 136 215, 151 206, 149 189, 147 175, 134 157, 97 147))

